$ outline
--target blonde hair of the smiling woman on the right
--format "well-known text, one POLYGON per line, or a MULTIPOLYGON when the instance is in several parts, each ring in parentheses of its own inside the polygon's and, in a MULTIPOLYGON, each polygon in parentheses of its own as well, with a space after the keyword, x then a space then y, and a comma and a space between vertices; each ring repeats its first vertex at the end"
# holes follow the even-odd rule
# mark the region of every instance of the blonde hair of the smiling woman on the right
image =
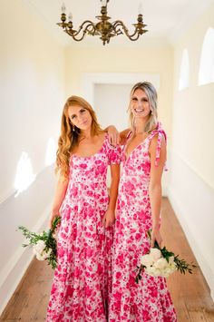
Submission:
POLYGON ((145 128, 143 129, 143 131, 150 133, 152 130, 156 128, 157 122, 158 122, 158 112, 157 112, 158 95, 154 86, 149 82, 136 83, 135 85, 133 85, 131 89, 131 94, 130 94, 130 104, 128 107, 128 111, 130 113, 131 128, 133 131, 134 131, 134 117, 133 117, 133 113, 131 112, 131 99, 135 91, 138 89, 146 93, 149 100, 151 112, 149 115, 149 120, 148 122, 146 122, 145 128))

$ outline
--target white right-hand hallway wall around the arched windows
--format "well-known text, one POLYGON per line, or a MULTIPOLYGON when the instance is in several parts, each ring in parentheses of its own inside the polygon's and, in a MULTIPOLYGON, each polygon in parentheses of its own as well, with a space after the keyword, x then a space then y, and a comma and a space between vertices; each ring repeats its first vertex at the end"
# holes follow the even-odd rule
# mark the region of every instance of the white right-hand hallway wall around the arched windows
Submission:
POLYGON ((203 37, 214 5, 175 44, 175 88, 169 195, 214 298, 214 83, 198 86, 203 37), (190 87, 179 91, 182 51, 190 57, 190 87))

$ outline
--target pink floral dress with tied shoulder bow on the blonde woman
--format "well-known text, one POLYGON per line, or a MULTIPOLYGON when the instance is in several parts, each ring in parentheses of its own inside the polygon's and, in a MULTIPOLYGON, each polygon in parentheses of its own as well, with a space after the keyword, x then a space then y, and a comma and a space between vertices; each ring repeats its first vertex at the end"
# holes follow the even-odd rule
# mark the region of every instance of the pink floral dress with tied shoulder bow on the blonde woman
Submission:
POLYGON ((177 321, 165 278, 153 278, 143 273, 139 284, 135 282, 134 270, 140 265, 141 256, 150 249, 147 236, 148 229, 151 229, 149 147, 155 135, 158 135, 155 161, 158 165, 161 140, 166 137, 160 123, 128 158, 125 149, 122 152, 109 313, 111 322, 177 321))

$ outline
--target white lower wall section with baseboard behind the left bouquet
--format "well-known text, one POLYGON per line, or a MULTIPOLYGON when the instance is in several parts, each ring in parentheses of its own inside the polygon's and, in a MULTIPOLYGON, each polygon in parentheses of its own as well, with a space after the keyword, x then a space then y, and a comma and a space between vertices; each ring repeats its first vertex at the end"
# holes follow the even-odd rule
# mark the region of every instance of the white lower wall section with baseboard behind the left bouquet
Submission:
POLYGON ((34 183, 20 193, 7 198, 0 207, 2 225, 0 234, 4 240, 1 244, 2 265, 0 268, 0 314, 5 309, 15 289, 24 276, 26 269, 34 258, 32 249, 24 249, 25 241, 17 227, 24 225, 31 231, 47 229, 49 213, 55 190, 53 166, 39 172, 34 183), (5 248, 6 245, 6 248, 5 248))

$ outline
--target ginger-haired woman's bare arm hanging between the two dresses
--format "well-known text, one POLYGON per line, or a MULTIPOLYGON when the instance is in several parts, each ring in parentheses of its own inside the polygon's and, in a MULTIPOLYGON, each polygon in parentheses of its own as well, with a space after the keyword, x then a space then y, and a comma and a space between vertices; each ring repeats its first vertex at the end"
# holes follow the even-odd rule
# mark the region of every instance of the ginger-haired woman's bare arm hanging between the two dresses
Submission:
POLYGON ((115 207, 118 194, 118 184, 120 180, 120 165, 112 164, 111 165, 111 186, 110 186, 110 200, 108 209, 103 218, 103 225, 107 228, 112 226, 115 220, 115 207))

